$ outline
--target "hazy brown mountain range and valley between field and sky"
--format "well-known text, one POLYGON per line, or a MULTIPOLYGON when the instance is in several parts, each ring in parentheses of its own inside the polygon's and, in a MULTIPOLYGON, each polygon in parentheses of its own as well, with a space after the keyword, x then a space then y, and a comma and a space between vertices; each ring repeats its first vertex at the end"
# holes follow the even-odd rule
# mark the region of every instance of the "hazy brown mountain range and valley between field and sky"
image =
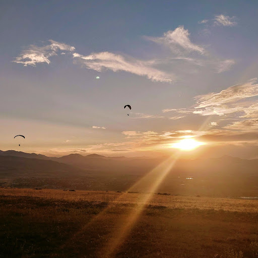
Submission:
MULTIPOLYGON (((126 190, 165 159, 97 154, 57 158, 0 151, 0 186, 126 190)), ((157 190, 183 195, 258 196, 257 168, 258 159, 179 159, 157 190)))

